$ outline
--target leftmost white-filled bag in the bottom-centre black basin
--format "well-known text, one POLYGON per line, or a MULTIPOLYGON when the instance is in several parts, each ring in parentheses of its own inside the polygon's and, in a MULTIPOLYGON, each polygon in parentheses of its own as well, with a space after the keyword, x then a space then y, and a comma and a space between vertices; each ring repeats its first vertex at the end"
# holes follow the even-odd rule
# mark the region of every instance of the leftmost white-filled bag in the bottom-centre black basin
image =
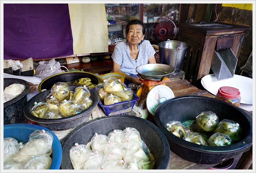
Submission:
POLYGON ((88 159, 88 153, 91 153, 91 149, 85 144, 75 143, 69 149, 69 157, 74 169, 82 169, 83 164, 88 159))

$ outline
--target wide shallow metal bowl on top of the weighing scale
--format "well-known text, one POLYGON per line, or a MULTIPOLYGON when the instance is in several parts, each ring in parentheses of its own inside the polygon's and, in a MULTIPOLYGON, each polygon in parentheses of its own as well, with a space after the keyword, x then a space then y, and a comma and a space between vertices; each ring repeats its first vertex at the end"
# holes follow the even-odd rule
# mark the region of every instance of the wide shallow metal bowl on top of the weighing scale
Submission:
POLYGON ((142 79, 161 81, 164 77, 170 77, 174 68, 167 64, 153 63, 140 65, 136 71, 142 79))

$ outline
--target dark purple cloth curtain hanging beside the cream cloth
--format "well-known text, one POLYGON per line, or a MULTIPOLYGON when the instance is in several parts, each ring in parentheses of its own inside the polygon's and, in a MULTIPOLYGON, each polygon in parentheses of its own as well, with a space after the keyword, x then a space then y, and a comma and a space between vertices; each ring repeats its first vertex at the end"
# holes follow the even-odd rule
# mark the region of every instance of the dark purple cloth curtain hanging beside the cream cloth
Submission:
POLYGON ((72 54, 68 4, 4 4, 4 59, 72 54))

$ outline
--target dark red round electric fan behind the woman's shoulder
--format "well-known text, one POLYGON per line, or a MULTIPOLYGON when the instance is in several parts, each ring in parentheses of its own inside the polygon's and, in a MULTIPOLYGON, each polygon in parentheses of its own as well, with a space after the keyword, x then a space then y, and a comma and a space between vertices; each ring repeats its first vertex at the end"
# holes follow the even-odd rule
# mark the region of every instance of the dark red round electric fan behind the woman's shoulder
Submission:
POLYGON ((161 18, 152 26, 152 37, 156 42, 173 40, 176 37, 176 32, 176 25, 168 18, 161 18))

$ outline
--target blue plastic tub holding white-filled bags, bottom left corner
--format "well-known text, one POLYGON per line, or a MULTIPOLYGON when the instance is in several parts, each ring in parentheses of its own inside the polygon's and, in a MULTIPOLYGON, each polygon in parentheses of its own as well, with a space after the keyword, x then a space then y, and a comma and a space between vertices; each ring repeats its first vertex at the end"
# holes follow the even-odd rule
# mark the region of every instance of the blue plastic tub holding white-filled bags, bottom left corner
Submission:
POLYGON ((53 135, 52 142, 52 164, 50 169, 60 169, 62 161, 62 148, 57 136, 48 128, 34 124, 7 124, 4 125, 4 138, 10 137, 16 139, 18 142, 28 141, 29 135, 35 130, 45 130, 53 135))

